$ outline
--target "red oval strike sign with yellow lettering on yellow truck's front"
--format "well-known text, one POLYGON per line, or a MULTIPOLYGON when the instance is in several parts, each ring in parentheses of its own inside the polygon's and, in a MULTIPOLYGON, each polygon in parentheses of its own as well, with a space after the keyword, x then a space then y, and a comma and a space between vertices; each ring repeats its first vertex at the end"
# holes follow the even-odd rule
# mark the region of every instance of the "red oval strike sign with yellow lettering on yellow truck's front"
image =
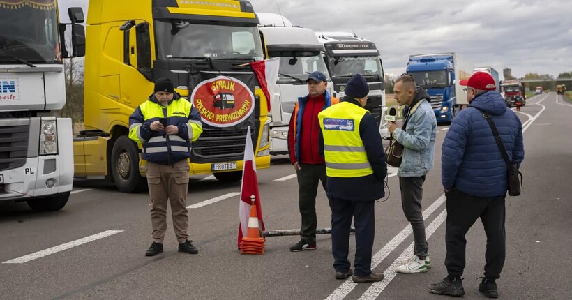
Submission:
POLYGON ((247 119, 254 110, 254 95, 233 77, 218 76, 204 80, 190 95, 191 103, 204 123, 230 127, 247 119))

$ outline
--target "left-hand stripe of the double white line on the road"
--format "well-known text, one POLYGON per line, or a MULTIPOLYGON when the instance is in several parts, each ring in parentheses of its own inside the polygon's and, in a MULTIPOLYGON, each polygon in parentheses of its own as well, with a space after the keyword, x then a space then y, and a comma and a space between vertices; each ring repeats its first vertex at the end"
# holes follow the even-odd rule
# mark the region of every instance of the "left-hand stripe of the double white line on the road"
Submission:
MULTIPOLYGON (((437 210, 441 206, 441 204, 445 202, 445 199, 446 199, 445 195, 441 195, 439 199, 435 200, 435 202, 433 202, 425 211, 423 211, 423 220, 428 218, 428 216, 430 216, 431 213, 437 210)), ((386 243, 386 245, 381 250, 377 251, 377 253, 375 253, 375 255, 373 255, 371 259, 371 269, 375 269, 375 267, 377 267, 377 265, 381 263, 385 259, 385 257, 387 257, 387 255, 393 252, 393 250, 395 250, 400 245, 400 243, 402 243, 403 241, 405 241, 405 239, 407 239, 407 237, 409 237, 409 234, 411 234, 412 231, 413 230, 411 226, 407 225, 405 228, 403 228, 403 230, 401 230, 400 233, 398 233, 395 237, 393 237, 393 239, 391 239, 389 243, 386 243)), ((326 298, 326 300, 344 299, 347 296, 347 294, 349 294, 349 292, 352 292, 352 290, 354 290, 354 287, 356 286, 357 283, 354 283, 352 281, 352 278, 349 278, 344 283, 342 283, 336 290, 334 290, 326 298)))

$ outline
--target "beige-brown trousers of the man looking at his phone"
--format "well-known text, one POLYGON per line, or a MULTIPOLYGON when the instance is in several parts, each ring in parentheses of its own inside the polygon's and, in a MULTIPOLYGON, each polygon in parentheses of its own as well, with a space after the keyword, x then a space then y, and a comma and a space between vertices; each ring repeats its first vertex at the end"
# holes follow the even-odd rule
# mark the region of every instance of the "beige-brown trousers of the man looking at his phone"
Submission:
POLYGON ((151 237, 157 243, 163 243, 167 231, 167 200, 171 202, 173 228, 176 239, 183 243, 188 239, 188 211, 186 208, 188 191, 187 160, 174 165, 159 165, 148 161, 147 184, 151 196, 151 237))

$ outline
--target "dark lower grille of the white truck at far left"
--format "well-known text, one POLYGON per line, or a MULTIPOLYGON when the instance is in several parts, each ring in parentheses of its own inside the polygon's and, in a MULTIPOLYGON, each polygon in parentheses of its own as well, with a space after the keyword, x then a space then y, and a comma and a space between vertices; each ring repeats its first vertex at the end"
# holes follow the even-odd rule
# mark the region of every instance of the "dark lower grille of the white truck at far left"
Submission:
POLYGON ((22 167, 26 163, 29 127, 0 127, 0 170, 22 167))

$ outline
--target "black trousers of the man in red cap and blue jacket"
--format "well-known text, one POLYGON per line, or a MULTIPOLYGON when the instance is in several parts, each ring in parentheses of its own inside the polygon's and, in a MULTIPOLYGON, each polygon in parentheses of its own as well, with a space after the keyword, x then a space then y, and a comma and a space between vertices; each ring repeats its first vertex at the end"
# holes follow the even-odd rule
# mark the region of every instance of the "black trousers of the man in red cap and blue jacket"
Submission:
POLYGON ((451 190, 447 197, 447 223, 445 266, 451 276, 462 276, 465 269, 465 234, 477 218, 481 218, 487 236, 485 277, 497 279, 504 266, 506 254, 504 232, 504 197, 476 197, 451 190))

